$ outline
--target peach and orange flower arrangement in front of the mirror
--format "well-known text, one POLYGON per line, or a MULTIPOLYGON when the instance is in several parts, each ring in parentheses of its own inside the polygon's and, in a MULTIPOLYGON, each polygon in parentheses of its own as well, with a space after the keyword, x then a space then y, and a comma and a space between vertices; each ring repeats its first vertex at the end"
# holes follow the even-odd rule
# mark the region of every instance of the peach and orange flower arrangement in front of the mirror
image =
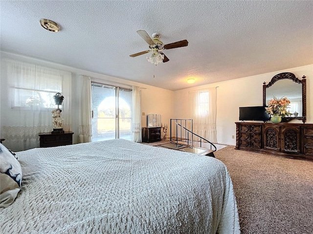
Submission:
POLYGON ((291 115, 289 111, 287 111, 287 107, 290 104, 290 100, 286 97, 283 98, 275 98, 273 97, 268 101, 268 107, 265 107, 266 113, 270 115, 279 115, 280 117, 286 117, 291 115))

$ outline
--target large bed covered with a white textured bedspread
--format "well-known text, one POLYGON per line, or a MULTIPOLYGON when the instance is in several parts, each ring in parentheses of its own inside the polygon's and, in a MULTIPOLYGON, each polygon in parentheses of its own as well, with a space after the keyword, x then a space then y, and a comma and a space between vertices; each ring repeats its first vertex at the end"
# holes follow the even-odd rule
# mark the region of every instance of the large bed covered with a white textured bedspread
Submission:
POLYGON ((17 152, 22 186, 0 233, 238 234, 223 162, 114 139, 17 152))

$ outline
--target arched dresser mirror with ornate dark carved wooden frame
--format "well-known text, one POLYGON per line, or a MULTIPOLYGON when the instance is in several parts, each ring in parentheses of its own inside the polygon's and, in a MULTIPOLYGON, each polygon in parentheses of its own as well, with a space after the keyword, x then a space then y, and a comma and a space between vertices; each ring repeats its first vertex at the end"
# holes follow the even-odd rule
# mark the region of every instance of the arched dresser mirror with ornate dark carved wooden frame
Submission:
POLYGON ((282 117, 282 122, 288 122, 291 119, 300 119, 303 123, 306 121, 306 77, 302 80, 295 77, 293 73, 284 72, 274 76, 268 84, 263 83, 263 106, 273 98, 287 97, 291 103, 289 111, 290 117, 282 117))

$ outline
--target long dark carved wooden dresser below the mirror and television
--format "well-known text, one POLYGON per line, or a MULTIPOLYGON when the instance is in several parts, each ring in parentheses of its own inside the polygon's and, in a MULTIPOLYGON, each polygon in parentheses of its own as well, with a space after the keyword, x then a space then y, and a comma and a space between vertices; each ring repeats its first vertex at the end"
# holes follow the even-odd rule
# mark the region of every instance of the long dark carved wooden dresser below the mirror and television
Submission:
POLYGON ((313 160, 313 124, 236 122, 235 149, 313 160))

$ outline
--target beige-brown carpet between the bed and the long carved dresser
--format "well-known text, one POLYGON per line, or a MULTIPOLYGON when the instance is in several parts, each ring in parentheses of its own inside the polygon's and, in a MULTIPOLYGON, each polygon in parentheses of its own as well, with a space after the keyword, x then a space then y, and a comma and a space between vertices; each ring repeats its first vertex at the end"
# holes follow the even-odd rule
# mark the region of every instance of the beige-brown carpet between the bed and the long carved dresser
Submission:
POLYGON ((215 152, 233 181, 242 234, 313 234, 313 162, 215 152))

